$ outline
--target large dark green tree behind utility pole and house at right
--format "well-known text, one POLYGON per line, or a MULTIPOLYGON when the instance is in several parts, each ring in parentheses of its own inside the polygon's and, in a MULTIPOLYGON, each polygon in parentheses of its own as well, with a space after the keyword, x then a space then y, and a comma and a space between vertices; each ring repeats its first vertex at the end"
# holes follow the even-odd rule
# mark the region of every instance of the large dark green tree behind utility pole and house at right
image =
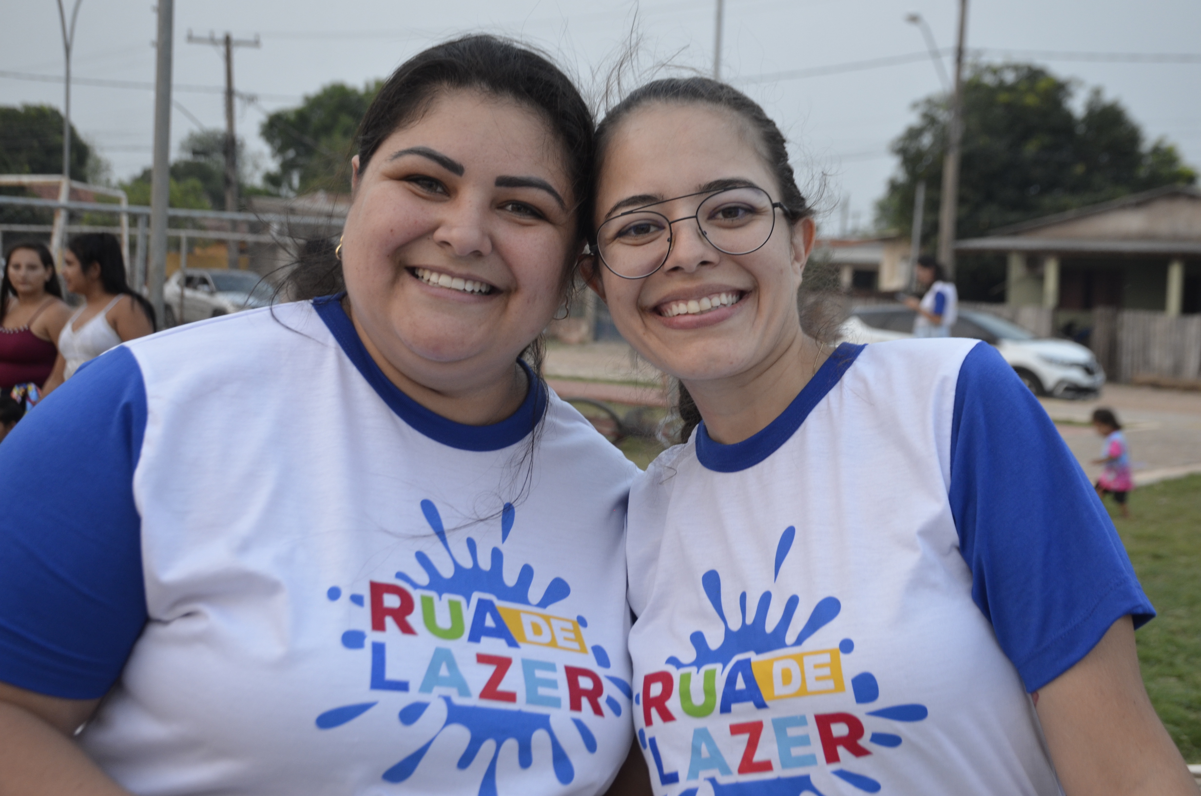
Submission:
MULTIPOLYGON (((1148 145, 1125 109, 1100 90, 1088 95, 1081 112, 1074 111, 1075 90, 1072 82, 1030 64, 972 67, 963 90, 958 238, 1160 185, 1196 182, 1196 172, 1172 144, 1159 139, 1148 145)), ((922 242, 933 250, 948 97, 926 97, 914 109, 916 123, 892 142, 900 165, 877 204, 877 224, 909 230, 914 189, 925 180, 922 242)), ((966 297, 985 298, 1004 279, 999 274, 1003 265, 996 257, 968 257, 957 277, 966 297)))

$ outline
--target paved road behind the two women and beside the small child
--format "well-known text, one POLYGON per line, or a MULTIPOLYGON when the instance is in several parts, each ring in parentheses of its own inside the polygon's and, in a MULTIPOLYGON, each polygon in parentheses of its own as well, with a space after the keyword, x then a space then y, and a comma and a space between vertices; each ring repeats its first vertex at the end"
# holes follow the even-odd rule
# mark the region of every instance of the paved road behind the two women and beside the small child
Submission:
MULTIPOLYGON (((546 376, 563 397, 635 405, 667 405, 663 375, 625 343, 551 344, 546 376)), ((1098 406, 1109 406, 1125 426, 1136 483, 1201 473, 1201 393, 1109 385, 1098 400, 1044 398, 1068 447, 1089 477, 1100 467, 1101 439, 1089 424, 1098 406)))

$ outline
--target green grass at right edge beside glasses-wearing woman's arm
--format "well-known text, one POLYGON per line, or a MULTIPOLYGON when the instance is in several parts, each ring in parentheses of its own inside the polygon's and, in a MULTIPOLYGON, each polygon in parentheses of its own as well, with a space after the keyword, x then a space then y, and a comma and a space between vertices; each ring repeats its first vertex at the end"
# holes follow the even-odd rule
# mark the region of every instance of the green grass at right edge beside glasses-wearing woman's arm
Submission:
POLYGON ((1184 759, 1201 764, 1201 475, 1106 501, 1158 617, 1136 634, 1142 679, 1184 759))

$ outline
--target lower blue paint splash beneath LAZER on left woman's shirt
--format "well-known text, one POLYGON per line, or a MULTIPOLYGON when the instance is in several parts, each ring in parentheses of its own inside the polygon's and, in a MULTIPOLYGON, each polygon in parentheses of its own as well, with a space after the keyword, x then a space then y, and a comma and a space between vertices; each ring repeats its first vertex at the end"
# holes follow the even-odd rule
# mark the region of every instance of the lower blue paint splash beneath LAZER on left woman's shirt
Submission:
MULTIPOLYGON (((413 772, 422 764, 425 753, 430 750, 430 747, 442 735, 442 731, 452 724, 466 727, 471 732, 467 748, 464 750, 462 756, 459 758, 459 771, 467 768, 474 762, 476 755, 479 754, 480 748, 486 742, 495 742, 492 759, 489 761, 484 778, 479 783, 479 796, 496 796, 496 761, 501 755, 501 747, 504 745, 506 741, 513 739, 518 742, 518 765, 522 768, 528 768, 533 765, 533 735, 539 730, 545 731, 550 736, 551 765, 555 770, 555 778, 562 785, 575 779, 575 768, 572 766, 567 752, 560 744, 555 730, 550 726, 549 715, 473 705, 455 705, 450 701, 449 696, 442 696, 441 699, 447 705, 447 718, 442 727, 420 749, 386 771, 383 773, 384 780, 402 783, 412 777, 413 772)), ((587 745, 587 739, 585 739, 585 745, 587 745)))

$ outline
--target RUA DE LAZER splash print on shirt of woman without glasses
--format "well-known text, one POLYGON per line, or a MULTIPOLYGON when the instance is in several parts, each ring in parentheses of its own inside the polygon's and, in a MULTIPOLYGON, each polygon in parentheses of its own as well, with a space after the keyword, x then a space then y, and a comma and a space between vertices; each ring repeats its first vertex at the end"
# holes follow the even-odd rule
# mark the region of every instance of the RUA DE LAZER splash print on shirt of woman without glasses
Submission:
POLYGON ((614 673, 602 644, 588 643, 585 616, 557 616, 572 604, 566 580, 554 577, 540 594, 531 594, 534 570, 524 564, 516 581, 506 582, 502 547, 516 513, 510 504, 498 518, 501 546, 492 547, 489 566, 479 560, 471 536, 470 564, 459 560, 437 506, 422 500, 420 510, 449 558, 450 574, 443 575, 446 568, 418 552, 419 578, 398 571, 395 581, 370 581, 366 594, 328 588, 330 602, 353 606, 343 614, 355 626, 342 634, 341 644, 370 653, 357 661, 365 701, 322 712, 315 719, 317 727, 334 731, 369 711, 398 708, 402 725, 425 727, 429 741, 382 773, 389 783, 408 780, 443 732, 462 727, 470 735, 458 768, 471 767, 488 749, 482 795, 497 792, 501 748, 515 741, 520 765, 527 768, 534 758, 534 736, 544 732, 550 760, 540 765, 550 762, 560 784, 570 784, 575 765, 551 717, 569 715, 584 748, 593 754, 596 735, 584 717, 628 720, 621 717, 622 699, 629 706, 629 683, 614 673))

